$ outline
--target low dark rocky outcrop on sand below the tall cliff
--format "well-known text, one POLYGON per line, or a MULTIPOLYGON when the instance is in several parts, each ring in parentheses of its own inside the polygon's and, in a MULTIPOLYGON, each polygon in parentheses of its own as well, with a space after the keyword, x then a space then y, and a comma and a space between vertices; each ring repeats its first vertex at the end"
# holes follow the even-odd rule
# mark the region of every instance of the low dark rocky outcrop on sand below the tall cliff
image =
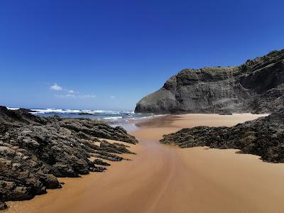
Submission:
POLYGON ((239 153, 261 156, 263 161, 284 163, 284 109, 233 127, 197 126, 163 136, 161 143, 181 148, 209 146, 236 148, 239 153))

